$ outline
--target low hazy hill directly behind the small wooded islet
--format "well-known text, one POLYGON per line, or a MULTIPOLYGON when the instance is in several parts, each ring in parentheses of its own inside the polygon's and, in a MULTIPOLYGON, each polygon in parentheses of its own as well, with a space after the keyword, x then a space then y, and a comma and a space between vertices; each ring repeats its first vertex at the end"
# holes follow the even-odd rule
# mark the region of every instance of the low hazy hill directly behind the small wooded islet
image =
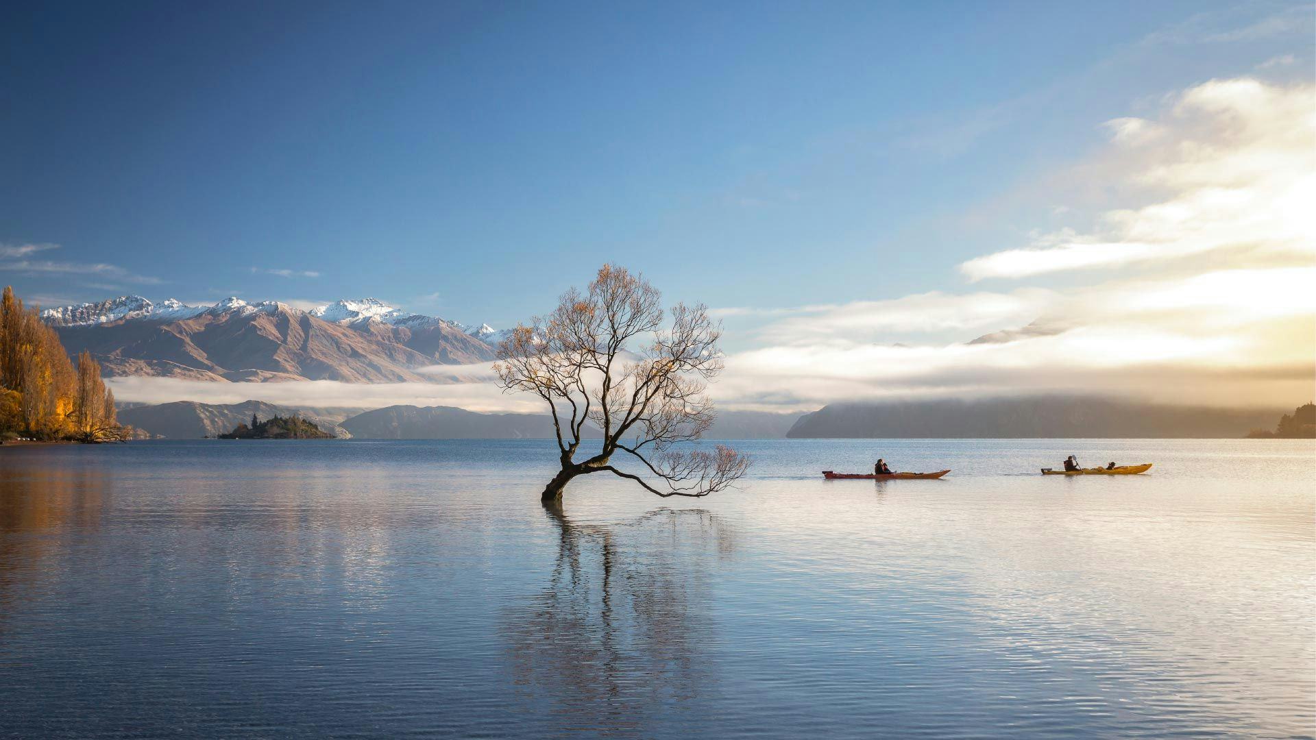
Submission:
POLYGON ((293 413, 299 413, 303 419, 307 419, 325 432, 340 437, 349 436, 332 419, 322 419, 313 413, 274 406, 263 400, 229 404, 179 400, 157 406, 137 406, 121 410, 118 420, 121 424, 132 424, 138 429, 170 440, 199 440, 230 432, 238 424, 250 421, 253 415, 261 419, 270 419, 272 416, 291 416, 293 413))

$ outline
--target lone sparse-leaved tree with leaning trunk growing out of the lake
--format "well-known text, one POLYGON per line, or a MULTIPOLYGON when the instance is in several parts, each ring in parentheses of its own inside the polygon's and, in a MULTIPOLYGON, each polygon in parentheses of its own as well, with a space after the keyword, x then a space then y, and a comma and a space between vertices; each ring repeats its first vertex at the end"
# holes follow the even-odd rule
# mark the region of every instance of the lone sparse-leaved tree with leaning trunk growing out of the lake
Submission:
POLYGON ((571 288, 547 317, 512 329, 495 365, 501 386, 547 402, 558 438, 562 470, 544 500, 559 499, 576 475, 600 471, 659 496, 705 496, 745 475, 749 458, 728 446, 672 449, 713 423, 705 390, 722 369, 720 336, 704 305, 678 303, 663 328, 658 291, 611 265, 584 294, 571 288), (629 346, 640 342, 647 344, 629 346), (603 449, 576 461, 587 421, 603 432, 603 449), (617 454, 642 475, 613 466, 617 454))

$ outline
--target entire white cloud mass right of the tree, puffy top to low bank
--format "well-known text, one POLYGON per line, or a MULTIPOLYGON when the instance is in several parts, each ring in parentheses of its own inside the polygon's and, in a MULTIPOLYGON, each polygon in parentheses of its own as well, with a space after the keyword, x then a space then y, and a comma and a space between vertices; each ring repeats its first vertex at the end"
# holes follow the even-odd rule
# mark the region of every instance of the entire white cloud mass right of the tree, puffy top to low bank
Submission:
POLYGON ((1152 119, 1108 121, 1100 166, 1075 171, 1120 207, 1096 228, 1033 233, 961 265, 970 280, 1076 273, 1067 287, 765 313, 770 345, 729 356, 713 392, 726 408, 758 410, 1040 392, 1305 400, 1316 383, 1313 111, 1311 86, 1241 78, 1186 90, 1152 119), (1121 273, 1078 282, 1098 267, 1121 273), (874 341, 969 329, 991 338, 874 341))

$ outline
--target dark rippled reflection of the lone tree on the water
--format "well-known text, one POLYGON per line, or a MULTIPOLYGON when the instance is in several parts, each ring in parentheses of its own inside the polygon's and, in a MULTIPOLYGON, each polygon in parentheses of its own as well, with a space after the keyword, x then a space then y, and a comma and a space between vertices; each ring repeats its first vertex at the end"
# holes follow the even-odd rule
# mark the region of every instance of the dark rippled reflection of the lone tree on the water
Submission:
MULTIPOLYGON (((544 502, 558 529, 547 587, 508 612, 519 695, 571 729, 636 731, 712 685, 709 577, 730 527, 705 510, 658 508, 580 524, 544 502)), ((667 719, 675 719, 669 716, 667 719)))

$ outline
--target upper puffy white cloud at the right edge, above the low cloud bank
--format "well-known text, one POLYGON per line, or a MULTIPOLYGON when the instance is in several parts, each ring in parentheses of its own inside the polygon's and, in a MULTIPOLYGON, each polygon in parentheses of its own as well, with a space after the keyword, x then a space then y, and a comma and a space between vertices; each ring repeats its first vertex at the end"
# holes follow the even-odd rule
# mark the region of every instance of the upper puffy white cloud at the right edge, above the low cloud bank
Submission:
POLYGON ((1305 263, 1316 254, 1313 108, 1311 86, 1241 78, 1184 91, 1159 121, 1115 119, 1117 145, 1155 140, 1108 186, 1146 194, 1146 204, 1104 212, 1091 233, 1049 234, 959 269, 970 280, 1017 279, 1217 251, 1305 263))

